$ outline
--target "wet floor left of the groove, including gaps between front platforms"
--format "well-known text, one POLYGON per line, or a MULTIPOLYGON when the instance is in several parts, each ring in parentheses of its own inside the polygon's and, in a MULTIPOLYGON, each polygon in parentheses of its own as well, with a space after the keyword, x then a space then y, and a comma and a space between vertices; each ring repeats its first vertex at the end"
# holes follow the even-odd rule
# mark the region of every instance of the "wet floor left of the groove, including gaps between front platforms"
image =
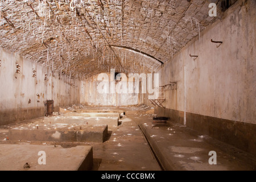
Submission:
MULTIPOLYGON (((24 123, 1 126, 0 143, 4 144, 39 144, 71 148, 80 145, 93 146, 93 168, 99 171, 159 171, 158 162, 154 158, 139 126, 129 117, 119 119, 119 125, 109 127, 108 138, 104 143, 95 142, 48 142, 29 140, 6 140, 9 129, 30 125, 35 127, 42 118, 24 123)), ((41 123, 44 126, 44 123, 41 123)), ((22 128, 23 129, 23 128, 22 128)), ((33 128, 32 128, 33 129, 33 128)), ((36 130, 36 127, 34 128, 36 130)))

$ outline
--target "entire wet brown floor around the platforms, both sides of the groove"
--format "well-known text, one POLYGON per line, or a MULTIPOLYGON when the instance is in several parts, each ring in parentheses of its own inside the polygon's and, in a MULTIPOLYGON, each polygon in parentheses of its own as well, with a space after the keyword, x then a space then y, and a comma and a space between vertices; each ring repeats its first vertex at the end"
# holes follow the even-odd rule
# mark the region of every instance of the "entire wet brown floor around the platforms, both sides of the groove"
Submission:
MULTIPOLYGON (((152 120, 154 114, 147 114, 147 111, 150 109, 148 107, 86 107, 86 110, 90 112, 97 110, 125 111, 126 115, 119 119, 120 125, 108 128, 108 138, 104 143, 6 140, 9 132, 8 127, 22 125, 22 123, 16 123, 15 125, 0 127, 0 144, 19 144, 26 146, 28 144, 36 144, 38 146, 52 146, 56 144, 62 148, 92 146, 92 170, 94 171, 256 169, 255 156, 207 136, 201 136, 180 125, 154 123, 152 120), (217 165, 210 165, 208 163, 210 158, 208 155, 209 151, 216 151, 217 165), (155 155, 158 160, 156 160, 155 155)), ((79 110, 85 110, 85 108, 76 107, 76 111, 79 110)), ((1 160, 5 158, 6 156, 0 155, 1 160)))

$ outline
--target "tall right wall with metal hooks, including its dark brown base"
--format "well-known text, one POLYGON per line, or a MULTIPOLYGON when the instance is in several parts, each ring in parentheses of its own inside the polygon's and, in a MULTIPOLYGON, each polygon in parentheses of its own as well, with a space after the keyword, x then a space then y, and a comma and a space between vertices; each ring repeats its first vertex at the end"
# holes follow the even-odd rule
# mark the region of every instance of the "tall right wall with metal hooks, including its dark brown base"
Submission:
MULTIPOLYGON (((237 1, 159 69, 166 109, 157 113, 200 133, 256 152, 255 1, 237 1), (223 42, 220 47, 210 40, 223 42), (191 55, 197 55, 193 60, 191 55)), ((150 105, 145 97, 144 103, 150 105)))

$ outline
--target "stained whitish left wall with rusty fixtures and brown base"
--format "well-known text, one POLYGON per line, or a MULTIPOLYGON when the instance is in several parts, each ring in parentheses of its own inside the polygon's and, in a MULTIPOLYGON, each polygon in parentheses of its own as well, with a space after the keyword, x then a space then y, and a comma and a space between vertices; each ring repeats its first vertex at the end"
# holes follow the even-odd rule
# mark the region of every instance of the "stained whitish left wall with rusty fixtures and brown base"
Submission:
POLYGON ((0 125, 44 116, 46 100, 53 100, 55 111, 58 111, 59 106, 79 103, 80 81, 70 81, 35 61, 3 48, 0 49, 0 60, 0 125), (16 63, 20 66, 19 73, 15 73, 16 63), (36 77, 32 77, 33 68, 36 77), (44 80, 45 73, 48 74, 47 81, 44 80), (70 82, 75 82, 77 87, 73 88, 68 84, 70 82))

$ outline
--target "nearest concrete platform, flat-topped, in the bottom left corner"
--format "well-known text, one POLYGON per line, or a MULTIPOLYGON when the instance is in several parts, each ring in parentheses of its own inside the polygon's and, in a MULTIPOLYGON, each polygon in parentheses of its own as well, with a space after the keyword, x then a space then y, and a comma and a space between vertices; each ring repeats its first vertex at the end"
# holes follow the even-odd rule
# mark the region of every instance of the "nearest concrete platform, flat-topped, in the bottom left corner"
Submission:
POLYGON ((93 165, 92 146, 43 146, 0 144, 0 171, 77 171, 93 165), (46 164, 39 164, 39 151, 46 152, 46 164), (23 168, 28 163, 30 168, 23 168))

